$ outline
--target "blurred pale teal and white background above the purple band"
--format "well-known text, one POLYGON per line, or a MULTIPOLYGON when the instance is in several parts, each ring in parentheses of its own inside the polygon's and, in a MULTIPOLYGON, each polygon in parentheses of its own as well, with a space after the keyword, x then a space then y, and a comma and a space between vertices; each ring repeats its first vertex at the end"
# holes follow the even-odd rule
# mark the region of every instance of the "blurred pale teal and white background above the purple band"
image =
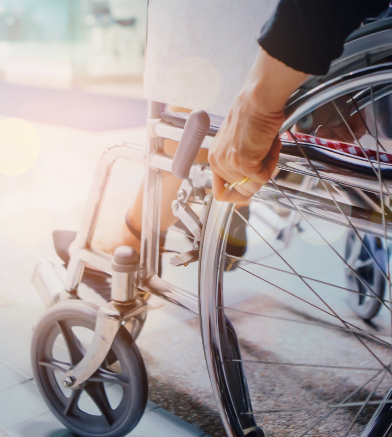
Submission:
POLYGON ((147 0, 2 0, 0 75, 35 86, 140 83, 147 0))

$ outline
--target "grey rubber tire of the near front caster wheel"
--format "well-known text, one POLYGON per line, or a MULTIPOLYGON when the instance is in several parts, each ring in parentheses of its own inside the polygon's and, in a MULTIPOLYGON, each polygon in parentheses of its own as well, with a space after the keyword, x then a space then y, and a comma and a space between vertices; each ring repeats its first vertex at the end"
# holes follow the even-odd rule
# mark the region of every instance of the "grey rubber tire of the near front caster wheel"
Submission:
POLYGON ((50 326, 53 322, 77 317, 84 321, 84 326, 94 329, 97 310, 98 307, 93 304, 80 300, 70 300, 55 304, 42 316, 34 329, 31 343, 31 363, 34 379, 51 412, 72 432, 81 437, 123 437, 138 424, 148 399, 148 381, 144 362, 132 336, 124 326, 120 327, 115 337, 113 349, 116 351, 116 356, 121 365, 127 365, 130 386, 132 387, 132 401, 128 406, 128 412, 121 418, 121 423, 109 432, 102 433, 96 432, 96 430, 89 432, 80 429, 64 417, 51 402, 47 392, 53 393, 54 390, 51 386, 47 386, 48 381, 45 378, 41 378, 39 367, 42 366, 37 365, 40 351, 44 350, 41 348, 45 347, 46 339, 50 334, 50 326))

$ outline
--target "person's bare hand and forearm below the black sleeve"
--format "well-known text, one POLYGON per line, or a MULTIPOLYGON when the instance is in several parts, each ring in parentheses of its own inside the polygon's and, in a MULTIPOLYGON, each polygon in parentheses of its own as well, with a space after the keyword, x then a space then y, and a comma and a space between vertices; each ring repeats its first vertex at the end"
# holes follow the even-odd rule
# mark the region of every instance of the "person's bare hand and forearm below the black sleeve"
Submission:
POLYGON ((261 49, 209 149, 215 199, 245 203, 268 182, 281 149, 277 135, 285 120, 285 104, 307 77, 261 49), (244 184, 225 188, 245 177, 249 180, 244 184))

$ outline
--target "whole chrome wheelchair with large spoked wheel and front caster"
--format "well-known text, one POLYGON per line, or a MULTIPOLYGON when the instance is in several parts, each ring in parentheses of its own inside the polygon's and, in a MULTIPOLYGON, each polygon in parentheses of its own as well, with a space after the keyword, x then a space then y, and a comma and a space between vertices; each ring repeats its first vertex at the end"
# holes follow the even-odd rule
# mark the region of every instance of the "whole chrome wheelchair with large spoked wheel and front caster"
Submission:
POLYGON ((34 377, 67 428, 83 437, 121 437, 140 420, 148 383, 135 340, 154 295, 198 314, 229 437, 388 435, 391 35, 389 18, 362 26, 327 76, 311 77, 293 94, 279 171, 252 198, 249 218, 209 194, 207 165, 181 158, 209 147, 221 117, 198 125, 200 111, 171 113, 150 101, 146 150, 121 143, 104 153, 67 271, 42 262, 33 278, 49 307, 34 330, 34 377), (180 140, 174 158, 163 153, 164 138, 180 140), (145 163, 140 258, 132 248, 114 257, 91 248, 119 158, 145 163), (191 249, 171 263, 186 269, 198 262, 198 295, 158 276, 163 171, 184 179, 172 209, 191 249), (272 216, 284 217, 284 225, 266 226, 272 216), (242 257, 227 252, 237 237, 230 235, 233 217, 245 223, 242 257), (105 305, 80 299, 87 263, 111 281, 105 305), (369 320, 379 311, 385 317, 376 325, 369 320), (120 394, 115 404, 110 387, 120 394), (97 412, 83 408, 87 398, 97 412))

